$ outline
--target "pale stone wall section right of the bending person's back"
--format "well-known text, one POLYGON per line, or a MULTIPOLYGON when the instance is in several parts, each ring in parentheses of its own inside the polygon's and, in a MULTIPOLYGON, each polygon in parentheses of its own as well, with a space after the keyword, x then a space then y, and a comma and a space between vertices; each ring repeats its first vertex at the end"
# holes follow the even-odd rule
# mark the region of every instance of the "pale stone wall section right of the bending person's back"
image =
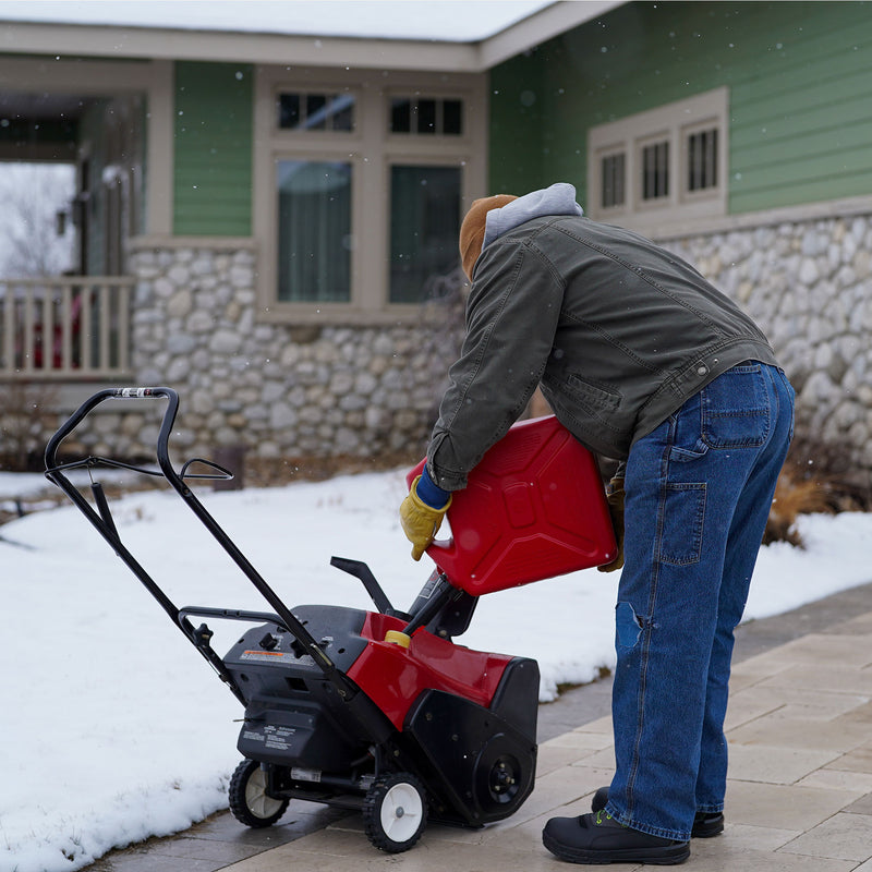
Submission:
MULTIPOLYGON (((758 227, 664 243, 737 300, 797 389, 797 436, 872 473, 872 216, 758 227), (828 449, 826 448, 828 446, 828 449)), ((810 462, 814 457, 810 456, 810 462)))

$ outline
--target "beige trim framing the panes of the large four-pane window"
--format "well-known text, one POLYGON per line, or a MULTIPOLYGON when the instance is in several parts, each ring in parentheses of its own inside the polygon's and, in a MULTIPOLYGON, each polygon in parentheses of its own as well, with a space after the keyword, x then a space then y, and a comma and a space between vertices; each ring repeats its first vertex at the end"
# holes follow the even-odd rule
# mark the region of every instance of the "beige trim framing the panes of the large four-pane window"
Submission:
POLYGON ((262 320, 293 324, 386 324, 420 317, 420 305, 389 303, 390 167, 395 164, 459 166, 462 202, 468 207, 485 193, 487 149, 486 77, 457 74, 366 73, 360 70, 299 70, 259 66, 255 83, 253 231, 258 245, 257 299, 262 320), (354 129, 281 130, 279 93, 343 90, 355 97, 354 129), (457 98, 463 101, 460 135, 391 134, 390 97, 457 98), (291 303, 277 298, 276 161, 342 160, 352 179, 351 300, 349 303, 291 303))

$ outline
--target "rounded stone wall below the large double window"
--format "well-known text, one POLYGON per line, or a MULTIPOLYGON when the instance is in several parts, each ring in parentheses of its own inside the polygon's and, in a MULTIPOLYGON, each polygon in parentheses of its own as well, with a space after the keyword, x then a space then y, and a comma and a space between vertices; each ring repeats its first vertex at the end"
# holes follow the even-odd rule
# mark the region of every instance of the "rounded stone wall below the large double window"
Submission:
MULTIPOLYGON (((134 380, 179 392, 180 458, 239 446, 247 459, 423 450, 460 338, 458 280, 415 326, 319 327, 258 322, 251 247, 141 246, 130 272, 134 380)), ((83 447, 153 456, 159 421, 143 405, 101 407, 83 447)))

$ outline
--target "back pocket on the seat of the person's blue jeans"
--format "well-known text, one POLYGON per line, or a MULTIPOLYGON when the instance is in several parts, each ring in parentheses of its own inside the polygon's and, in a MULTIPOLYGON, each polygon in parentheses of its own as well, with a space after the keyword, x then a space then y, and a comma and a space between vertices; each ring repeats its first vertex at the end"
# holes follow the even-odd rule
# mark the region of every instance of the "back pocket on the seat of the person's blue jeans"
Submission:
POLYGON ((770 433, 770 401, 762 364, 727 370, 706 385, 702 399, 702 438, 712 448, 752 448, 770 433))

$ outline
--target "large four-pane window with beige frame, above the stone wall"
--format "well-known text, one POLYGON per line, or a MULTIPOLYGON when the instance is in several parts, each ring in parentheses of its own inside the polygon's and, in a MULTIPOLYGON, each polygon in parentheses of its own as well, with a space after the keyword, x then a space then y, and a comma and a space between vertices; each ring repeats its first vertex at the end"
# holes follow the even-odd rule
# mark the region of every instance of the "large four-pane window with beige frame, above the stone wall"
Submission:
POLYGON ((459 267, 463 209, 487 193, 487 75, 261 64, 255 76, 258 318, 419 319, 434 277, 459 267))

